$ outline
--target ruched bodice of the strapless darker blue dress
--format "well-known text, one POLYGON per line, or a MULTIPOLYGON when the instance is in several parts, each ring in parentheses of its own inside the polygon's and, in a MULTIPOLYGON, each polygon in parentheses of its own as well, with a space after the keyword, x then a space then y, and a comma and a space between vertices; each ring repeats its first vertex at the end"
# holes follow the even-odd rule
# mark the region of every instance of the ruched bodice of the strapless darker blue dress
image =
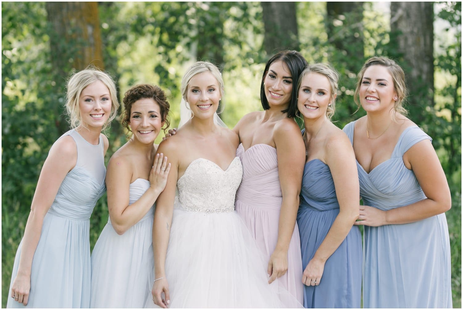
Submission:
POLYGON ((339 209, 330 167, 315 158, 306 163, 300 190, 300 208, 339 209))

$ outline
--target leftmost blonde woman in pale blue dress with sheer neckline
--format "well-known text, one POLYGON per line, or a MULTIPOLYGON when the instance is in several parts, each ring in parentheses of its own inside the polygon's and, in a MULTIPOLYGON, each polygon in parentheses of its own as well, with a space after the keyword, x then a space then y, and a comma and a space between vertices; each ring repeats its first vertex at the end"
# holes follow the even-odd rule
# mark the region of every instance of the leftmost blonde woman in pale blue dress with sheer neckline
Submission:
POLYGON ((87 69, 67 83, 73 129, 51 146, 18 247, 7 308, 88 308, 89 218, 104 194, 108 139, 119 108, 106 73, 87 69))

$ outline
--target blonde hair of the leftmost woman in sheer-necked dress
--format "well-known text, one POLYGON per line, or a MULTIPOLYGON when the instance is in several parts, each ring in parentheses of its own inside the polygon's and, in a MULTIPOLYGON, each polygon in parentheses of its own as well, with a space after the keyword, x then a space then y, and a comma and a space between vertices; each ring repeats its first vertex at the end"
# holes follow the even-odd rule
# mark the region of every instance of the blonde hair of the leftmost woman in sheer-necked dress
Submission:
POLYGON ((111 113, 102 129, 106 129, 111 121, 116 117, 119 108, 119 101, 117 98, 116 85, 114 80, 109 74, 91 66, 85 70, 75 72, 66 83, 66 110, 69 117, 69 125, 71 128, 76 128, 81 125, 81 112, 79 109, 79 99, 82 90, 93 82, 100 81, 109 89, 109 96, 111 98, 111 113))

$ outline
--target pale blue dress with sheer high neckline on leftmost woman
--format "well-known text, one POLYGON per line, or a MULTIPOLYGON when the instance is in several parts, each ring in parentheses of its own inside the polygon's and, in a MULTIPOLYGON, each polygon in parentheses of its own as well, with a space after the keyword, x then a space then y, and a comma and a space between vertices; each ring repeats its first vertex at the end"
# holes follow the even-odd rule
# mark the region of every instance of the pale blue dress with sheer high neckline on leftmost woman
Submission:
MULTIPOLYGON (((61 183, 44 217, 31 268, 27 306, 10 297, 21 255, 14 259, 7 308, 88 308, 90 304, 90 215, 106 191, 102 135, 92 145, 74 129, 77 162, 61 183)), ((62 137, 63 137, 62 136, 62 137)), ((60 138, 61 139, 61 138, 60 138)))

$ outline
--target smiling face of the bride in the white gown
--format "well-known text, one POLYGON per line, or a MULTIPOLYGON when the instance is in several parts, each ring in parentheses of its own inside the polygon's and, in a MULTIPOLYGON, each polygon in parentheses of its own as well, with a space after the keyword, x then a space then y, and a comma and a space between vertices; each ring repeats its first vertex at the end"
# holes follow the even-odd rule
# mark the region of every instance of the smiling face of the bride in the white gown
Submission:
POLYGON ((212 73, 198 73, 190 79, 186 100, 195 117, 213 117, 221 99, 219 82, 212 73))

